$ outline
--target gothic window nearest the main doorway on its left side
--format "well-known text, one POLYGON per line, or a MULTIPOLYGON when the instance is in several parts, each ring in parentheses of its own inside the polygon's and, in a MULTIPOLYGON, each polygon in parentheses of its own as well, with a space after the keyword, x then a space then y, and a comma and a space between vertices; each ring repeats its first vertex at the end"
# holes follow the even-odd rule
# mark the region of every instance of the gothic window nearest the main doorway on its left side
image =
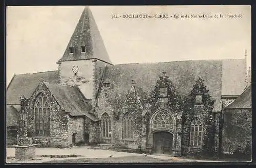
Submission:
POLYGON ((133 117, 130 113, 126 113, 123 116, 122 137, 123 139, 133 138, 133 117))

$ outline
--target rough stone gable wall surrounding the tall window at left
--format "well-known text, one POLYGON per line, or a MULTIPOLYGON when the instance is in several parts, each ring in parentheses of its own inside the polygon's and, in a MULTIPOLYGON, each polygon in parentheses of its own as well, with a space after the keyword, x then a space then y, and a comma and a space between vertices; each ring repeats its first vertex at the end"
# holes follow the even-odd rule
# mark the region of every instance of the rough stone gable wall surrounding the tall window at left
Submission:
POLYGON ((52 147, 69 147, 68 115, 55 100, 44 82, 40 82, 32 96, 29 98, 28 134, 34 139, 47 140, 52 147), (39 93, 48 97, 50 103, 50 136, 35 135, 34 101, 39 93))

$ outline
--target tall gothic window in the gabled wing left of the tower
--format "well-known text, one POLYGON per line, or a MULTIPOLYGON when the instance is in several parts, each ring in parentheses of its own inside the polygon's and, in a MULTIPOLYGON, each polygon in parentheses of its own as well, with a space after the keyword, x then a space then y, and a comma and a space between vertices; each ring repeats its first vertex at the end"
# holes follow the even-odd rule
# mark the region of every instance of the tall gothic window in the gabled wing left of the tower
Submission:
POLYGON ((39 93, 34 105, 35 112, 35 135, 50 135, 50 103, 48 98, 39 93))

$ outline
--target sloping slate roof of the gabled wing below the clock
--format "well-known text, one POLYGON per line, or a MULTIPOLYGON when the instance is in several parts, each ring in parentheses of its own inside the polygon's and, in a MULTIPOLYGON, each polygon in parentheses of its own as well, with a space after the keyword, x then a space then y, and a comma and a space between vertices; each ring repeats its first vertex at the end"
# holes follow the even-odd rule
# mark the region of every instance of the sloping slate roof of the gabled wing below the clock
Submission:
POLYGON ((70 112, 71 116, 86 116, 93 121, 98 119, 90 114, 92 109, 90 102, 82 96, 78 87, 69 87, 54 83, 45 83, 59 105, 70 112))

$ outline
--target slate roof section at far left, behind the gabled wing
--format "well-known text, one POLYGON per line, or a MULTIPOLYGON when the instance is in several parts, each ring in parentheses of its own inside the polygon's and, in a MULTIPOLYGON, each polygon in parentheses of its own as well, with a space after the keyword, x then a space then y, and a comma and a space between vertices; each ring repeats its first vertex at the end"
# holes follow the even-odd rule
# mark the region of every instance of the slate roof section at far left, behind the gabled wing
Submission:
POLYGON ((41 78, 49 83, 57 83, 59 78, 58 76, 58 71, 14 75, 7 87, 6 103, 20 104, 19 97, 24 95, 26 98, 29 98, 41 78))

